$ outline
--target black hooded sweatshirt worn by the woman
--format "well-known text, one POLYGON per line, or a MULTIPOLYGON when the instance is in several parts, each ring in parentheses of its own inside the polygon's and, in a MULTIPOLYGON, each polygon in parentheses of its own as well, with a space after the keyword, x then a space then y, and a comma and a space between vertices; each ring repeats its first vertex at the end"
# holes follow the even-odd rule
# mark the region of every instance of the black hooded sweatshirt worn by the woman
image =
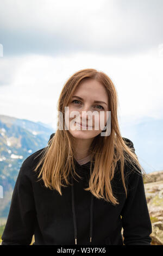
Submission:
MULTIPOLYGON (((129 139, 123 139, 134 148, 129 139)), ((78 181, 71 178, 73 186, 61 187, 60 196, 58 191, 46 188, 42 180, 38 182, 33 171, 39 161, 36 156, 42 151, 36 151, 22 163, 2 245, 30 245, 33 235, 35 245, 151 244, 152 225, 141 174, 125 167, 126 199, 120 168, 116 169, 111 185, 119 204, 113 205, 84 190, 89 184, 90 162, 80 166, 74 160, 76 172, 82 179, 78 176, 75 176, 78 181)))

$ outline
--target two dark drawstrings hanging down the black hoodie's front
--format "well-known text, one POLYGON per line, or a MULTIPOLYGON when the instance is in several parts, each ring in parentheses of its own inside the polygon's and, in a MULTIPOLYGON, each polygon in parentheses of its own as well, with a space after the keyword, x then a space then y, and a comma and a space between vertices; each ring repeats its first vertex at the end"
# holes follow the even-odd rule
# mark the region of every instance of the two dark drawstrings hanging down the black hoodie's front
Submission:
MULTIPOLYGON (((72 195, 72 213, 73 213, 73 225, 74 225, 74 240, 77 245, 77 220, 76 220, 76 211, 74 207, 74 183, 71 176, 71 195, 72 195)), ((93 227, 93 194, 91 194, 91 206, 90 206, 90 242, 92 241, 92 227, 93 227)))

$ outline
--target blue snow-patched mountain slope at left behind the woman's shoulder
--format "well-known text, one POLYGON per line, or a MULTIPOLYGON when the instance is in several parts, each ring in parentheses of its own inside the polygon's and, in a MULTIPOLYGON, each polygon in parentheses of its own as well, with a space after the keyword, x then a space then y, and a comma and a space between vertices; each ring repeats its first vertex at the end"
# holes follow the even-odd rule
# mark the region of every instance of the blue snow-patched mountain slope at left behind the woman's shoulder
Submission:
MULTIPOLYGON (((55 132, 47 124, 0 115, 0 218, 7 218, 12 191, 22 162, 35 151, 45 148, 55 132)), ((0 223, 1 224, 1 223, 0 223)))

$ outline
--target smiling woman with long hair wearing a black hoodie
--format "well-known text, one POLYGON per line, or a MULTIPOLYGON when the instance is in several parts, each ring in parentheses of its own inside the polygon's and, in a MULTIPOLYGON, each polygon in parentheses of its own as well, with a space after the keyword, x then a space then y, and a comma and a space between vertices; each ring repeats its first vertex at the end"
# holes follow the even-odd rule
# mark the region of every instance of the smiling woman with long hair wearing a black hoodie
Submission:
POLYGON ((2 245, 29 245, 33 235, 35 245, 150 245, 144 171, 121 136, 110 78, 76 72, 58 111, 48 146, 21 166, 2 245))

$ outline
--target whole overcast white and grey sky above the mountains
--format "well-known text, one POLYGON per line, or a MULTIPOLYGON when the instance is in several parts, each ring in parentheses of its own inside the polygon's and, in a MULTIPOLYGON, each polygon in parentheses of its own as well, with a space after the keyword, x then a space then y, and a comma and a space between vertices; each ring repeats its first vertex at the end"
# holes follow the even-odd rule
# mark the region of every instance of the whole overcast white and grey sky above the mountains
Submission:
POLYGON ((0 1, 0 114, 55 126, 67 79, 95 68, 120 123, 163 118, 162 0, 0 1))

